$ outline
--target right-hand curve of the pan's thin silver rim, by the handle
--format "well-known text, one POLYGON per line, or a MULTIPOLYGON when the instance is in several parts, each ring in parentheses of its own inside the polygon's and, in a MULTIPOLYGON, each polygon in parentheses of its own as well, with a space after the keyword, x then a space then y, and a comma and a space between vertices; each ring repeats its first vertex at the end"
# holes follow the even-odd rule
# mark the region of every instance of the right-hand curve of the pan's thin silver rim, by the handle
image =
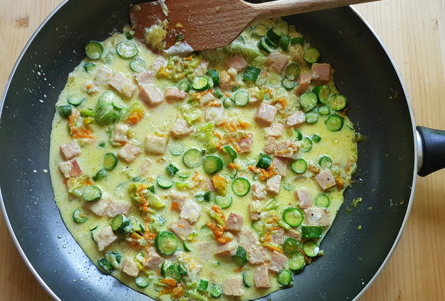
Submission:
POLYGON ((385 47, 385 45, 383 44, 382 40, 380 39, 380 37, 378 36, 378 34, 374 31, 374 29, 372 28, 371 24, 369 24, 364 17, 357 11, 357 9, 353 8, 350 6, 350 9, 353 10, 353 12, 360 18, 362 19, 362 22, 368 27, 368 29, 371 31, 371 33, 373 33, 373 35, 375 36, 375 38, 378 40, 378 42, 380 43, 380 46, 382 47, 382 49, 385 51, 385 54, 387 55, 387 57, 389 58, 389 61, 391 62, 392 67, 394 67, 394 70, 396 71, 397 77, 398 77, 398 81, 400 81, 401 83, 401 87, 403 89, 403 94, 405 95, 406 98, 406 103, 408 106, 408 111, 410 111, 410 118, 411 118, 411 124, 412 124, 412 137, 413 137, 413 143, 414 143, 414 171, 412 174, 412 184, 411 184, 411 194, 410 194, 410 200, 407 204, 407 209, 405 212, 405 218, 403 218, 403 222, 401 225, 401 229, 398 231, 396 240, 394 241, 394 244, 391 247, 391 250, 389 250, 387 257, 385 258, 385 260, 382 262, 382 265, 380 266, 380 268, 378 268, 377 272, 375 272, 374 276, 372 277, 371 280, 369 280, 368 284, 366 284, 366 286, 364 286, 364 288, 362 289, 362 291, 354 298, 353 301, 358 301, 359 298, 362 297, 362 295, 365 293, 365 291, 371 287, 371 285, 375 282, 375 279, 377 279, 378 275, 380 275, 380 272, 382 272, 382 270, 385 268, 385 266, 387 265, 389 259, 391 258, 392 254, 394 254, 394 251, 396 250, 396 247, 398 245, 398 242, 401 240, 402 234, 403 234, 403 230, 406 227, 406 223, 408 221, 408 218, 410 217, 410 212, 411 212, 411 208, 412 208, 412 202, 414 200, 414 192, 415 192, 415 188, 416 188, 416 181, 417 181, 417 161, 419 160, 418 158, 418 154, 419 154, 419 150, 417 148, 417 138, 416 138, 416 124, 414 122, 414 113, 412 111, 412 106, 411 106, 411 101, 410 101, 410 97, 408 96, 407 90, 406 90, 406 86, 405 83, 402 80, 402 76, 401 73, 398 71, 397 67, 396 67, 396 63, 394 62, 394 59, 392 58, 392 56, 389 54, 389 51, 387 49, 387 47, 385 47))

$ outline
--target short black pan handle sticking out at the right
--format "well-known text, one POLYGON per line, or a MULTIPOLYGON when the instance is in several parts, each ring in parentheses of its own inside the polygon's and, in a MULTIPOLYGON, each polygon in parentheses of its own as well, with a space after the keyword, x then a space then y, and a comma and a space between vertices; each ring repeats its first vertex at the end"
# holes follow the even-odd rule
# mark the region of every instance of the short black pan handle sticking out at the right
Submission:
POLYGON ((445 168, 445 131, 416 127, 419 165, 417 174, 428 174, 445 168))

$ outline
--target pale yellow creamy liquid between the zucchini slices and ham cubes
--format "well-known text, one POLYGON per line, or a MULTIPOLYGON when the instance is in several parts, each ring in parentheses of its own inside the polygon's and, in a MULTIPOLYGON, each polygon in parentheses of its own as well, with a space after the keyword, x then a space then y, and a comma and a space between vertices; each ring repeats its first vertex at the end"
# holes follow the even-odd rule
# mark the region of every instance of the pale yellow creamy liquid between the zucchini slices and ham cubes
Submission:
MULTIPOLYGON (((273 20, 264 20, 261 22, 262 24, 266 24, 266 26, 273 26, 273 20)), ((289 35, 291 36, 300 36, 296 31, 290 29, 289 35)), ((245 40, 245 44, 252 44, 254 47, 257 45, 258 38, 252 37, 250 31, 246 31, 243 33, 243 38, 245 40)), ((111 68, 114 72, 122 72, 128 79, 131 79, 133 83, 133 76, 137 73, 133 72, 129 67, 129 59, 121 58, 118 54, 115 53, 115 47, 119 42, 127 40, 124 34, 115 33, 110 38, 102 42, 104 46, 104 55, 99 60, 89 60, 88 58, 84 60, 79 66, 77 66, 68 76, 67 84, 63 91, 60 93, 58 103, 56 107, 67 104, 68 97, 80 97, 84 98, 85 101, 77 107, 78 110, 82 110, 85 108, 95 108, 97 104, 97 99, 106 91, 113 90, 110 86, 98 86, 95 92, 87 92, 86 87, 95 81, 95 75, 99 67, 106 65, 111 68), (93 62, 95 63, 95 67, 90 71, 86 72, 84 68, 84 63, 93 62)), ((145 61, 145 65, 147 66, 147 70, 150 69, 152 63, 156 60, 157 56, 152 54, 143 44, 138 44, 138 56, 143 58, 145 61)), ((309 44, 305 44, 305 48, 309 47, 309 44)), ((211 63, 209 65, 209 69, 216 70, 227 70, 225 67, 225 60, 229 55, 223 52, 212 52, 209 51, 206 54, 202 54, 205 58, 211 58, 211 63)), ((201 57, 198 56, 198 57, 201 57)), ((266 54, 263 54, 266 56, 266 54)), ((246 58, 248 62, 252 62, 252 60, 246 58)), ((307 63, 299 63, 301 72, 309 72, 310 65, 307 63)), ((268 70, 267 67, 261 67, 262 70, 268 70)), ((244 83, 239 79, 242 76, 243 72, 238 72, 238 82, 241 85, 239 88, 246 89, 254 86, 253 83, 244 83), (244 86, 243 86, 244 85, 244 86)), ((260 88, 264 86, 273 90, 274 98, 284 98, 286 99, 287 106, 289 106, 289 110, 284 110, 284 113, 278 113, 275 117, 275 122, 280 122, 285 120, 286 114, 289 114, 290 111, 294 110, 296 106, 298 106, 299 97, 296 96, 294 90, 285 90, 281 87, 281 75, 275 74, 273 72, 268 72, 265 78, 261 78, 257 81, 257 85, 261 85, 260 88)), ((168 87, 177 87, 177 81, 170 81, 169 79, 165 79, 162 76, 156 76, 154 84, 159 88, 159 90, 164 91, 165 88, 168 87)), ((334 82, 332 79, 328 83, 332 92, 337 92, 334 86, 334 82)), ((311 83, 311 87, 315 84, 311 83)), ((309 88, 310 89, 310 88, 309 88)), ((117 95, 120 95, 115 91, 117 95)), ((189 94, 191 95, 192 92, 189 94)), ((229 95, 233 95, 233 92, 224 92, 229 95)), ((141 103, 138 98, 138 92, 134 93, 133 97, 127 98, 122 95, 124 104, 128 107, 133 103, 141 103)), ((165 224, 161 227, 161 229, 169 230, 169 225, 171 222, 175 222, 179 219, 179 211, 171 211, 170 204, 171 201, 168 198, 171 190, 178 190, 184 193, 189 193, 190 198, 193 199, 194 195, 198 193, 204 193, 206 190, 202 189, 202 185, 186 188, 185 190, 181 190, 180 188, 175 188, 175 185, 172 188, 163 189, 156 185, 156 178, 160 175, 171 179, 173 182, 179 181, 191 181, 191 177, 187 179, 181 179, 177 175, 175 177, 170 177, 165 171, 165 168, 168 164, 175 164, 180 171, 189 172, 193 175, 194 172, 199 172, 199 174, 206 179, 204 183, 207 183, 210 179, 210 175, 206 174, 204 170, 202 170, 202 166, 198 168, 187 168, 182 162, 182 154, 187 149, 192 147, 197 147, 199 149, 205 149, 205 145, 200 140, 195 139, 195 134, 192 133, 189 136, 184 138, 172 138, 169 135, 170 128, 172 124, 177 120, 178 116, 181 116, 181 111, 179 106, 181 106, 181 102, 184 101, 174 101, 172 103, 168 103, 163 101, 162 104, 155 107, 145 106, 145 116, 143 120, 138 122, 138 124, 131 126, 131 141, 134 143, 140 143, 139 147, 141 149, 141 154, 139 154, 136 159, 131 163, 126 163, 119 159, 118 165, 111 171, 108 171, 108 176, 99 181, 92 181, 93 184, 99 186, 102 191, 109 193, 115 197, 116 200, 125 200, 127 202, 131 202, 131 210, 127 214, 128 216, 136 216, 143 220, 141 213, 138 209, 137 204, 133 200, 128 192, 128 186, 131 184, 132 179, 136 176, 140 176, 149 185, 154 185, 156 188, 156 195, 159 195, 162 202, 165 203, 165 207, 163 209, 152 209, 157 215, 163 215, 166 219, 165 224), (169 140, 169 144, 167 147, 167 152, 163 155, 154 155, 147 154, 144 152, 144 143, 145 136, 149 134, 159 134, 161 136, 165 136, 169 140), (181 152, 180 155, 171 154, 171 150, 173 152, 181 152), (149 167, 149 170, 145 174, 141 174, 140 166, 143 165, 146 158, 150 158, 152 160, 152 164, 149 167)), ((197 106, 200 108, 200 106, 197 106)), ((225 118, 238 118, 238 120, 242 120, 243 122, 248 122, 250 126, 246 131, 250 131, 253 134, 253 145, 252 150, 248 154, 240 154, 238 152, 238 158, 236 159, 236 163, 239 165, 238 174, 236 177, 243 176, 249 179, 250 184, 254 182, 259 182, 257 176, 254 173, 248 170, 248 165, 256 165, 258 161, 259 153, 263 152, 263 147, 266 141, 264 127, 259 126, 257 122, 254 121, 254 115, 257 112, 258 105, 250 105, 248 106, 232 106, 230 108, 225 108, 225 118)), ((306 122, 302 125, 296 127, 303 136, 311 137, 312 134, 317 133, 321 136, 321 140, 317 142, 313 142, 313 147, 309 152, 299 152, 298 157, 304 158, 308 165, 318 166, 318 158, 322 155, 328 155, 332 158, 333 168, 338 170, 341 174, 341 177, 344 181, 343 188, 330 188, 329 190, 323 191, 320 186, 314 181, 314 174, 311 172, 306 172, 302 175, 295 174, 289 164, 287 168, 287 174, 282 179, 280 193, 275 196, 275 200, 277 200, 280 204, 280 209, 277 209, 276 213, 278 216, 281 216, 282 209, 286 206, 297 206, 296 197, 294 195, 295 190, 304 189, 314 200, 314 197, 317 195, 324 193, 330 197, 330 205, 327 208, 330 212, 330 220, 333 221, 339 207, 343 202, 343 190, 348 186, 350 182, 351 173, 354 170, 355 163, 357 162, 357 144, 355 143, 355 130, 353 129, 353 124, 350 122, 348 117, 344 117, 344 124, 340 131, 330 131, 325 126, 325 120, 327 116, 319 116, 318 122, 315 124, 307 124, 306 122), (346 171, 345 171, 346 170, 346 171)), ((120 122, 124 124, 124 122, 120 122)), ((199 120, 192 124, 193 127, 197 128, 202 124, 206 124, 204 120, 199 120)), ((79 140, 79 144, 81 145, 81 154, 76 157, 79 161, 79 165, 82 169, 82 174, 87 175, 88 177, 93 177, 98 170, 102 168, 104 155, 109 152, 113 152, 114 154, 118 154, 121 146, 113 146, 112 145, 112 137, 113 137, 113 124, 109 124, 104 127, 100 127, 99 125, 92 122, 89 124, 93 131, 93 135, 95 136, 94 141, 84 142, 79 140), (103 143, 103 146, 101 146, 103 143)), ((59 113, 56 112, 53 120, 53 127, 51 131, 51 147, 50 147, 50 172, 51 172, 51 181, 54 188, 55 200, 60 210, 60 213, 63 217, 65 225, 70 230, 70 233, 76 241, 81 245, 82 249, 86 252, 88 257, 90 257, 91 261, 97 265, 97 261, 104 257, 106 252, 116 251, 122 254, 122 257, 129 257, 131 259, 136 258, 136 254, 143 249, 143 246, 140 247, 131 247, 130 244, 124 240, 123 235, 118 235, 119 238, 111 243, 106 250, 103 252, 99 252, 97 249, 97 243, 92 239, 92 234, 90 229, 97 227, 97 229, 103 229, 109 222, 111 218, 108 217, 100 217, 95 215, 94 213, 89 212, 87 209, 83 208, 83 203, 85 201, 81 200, 80 197, 75 197, 74 195, 67 192, 67 188, 65 186, 65 178, 63 174, 61 174, 58 163, 65 161, 65 158, 60 154, 60 145, 65 145, 66 143, 70 143, 72 141, 72 136, 70 132, 67 130, 67 120, 65 117, 62 117, 59 113), (83 223, 75 222, 72 214, 76 209, 82 209, 88 214, 88 220, 83 223)), ((216 127, 215 129, 218 129, 216 127)), ((286 128, 284 131, 284 135, 280 140, 295 140, 295 131, 293 128, 286 128)), ((210 152, 208 152, 209 154, 210 152)), ((213 152, 214 154, 225 156, 218 152, 213 152)), ((227 160, 225 159, 226 163, 227 160)), ((232 171, 225 167, 218 174, 229 175, 232 174, 232 171)), ((233 179, 227 177, 228 187, 227 192, 229 195, 232 195, 233 202, 232 205, 227 209, 222 209, 225 213, 225 216, 229 215, 229 213, 240 213, 243 215, 243 227, 250 227, 252 224, 252 220, 250 218, 250 211, 248 204, 252 201, 252 191, 250 191, 247 195, 240 197, 234 195, 232 193, 232 189, 230 185, 232 184, 233 179)), ((213 193, 216 195, 216 193, 213 193)), ((273 195, 269 195, 269 198, 272 198, 273 195)), ((266 201, 261 201, 263 204, 266 201)), ((206 211, 211 210, 211 206, 214 204, 213 200, 210 202, 199 202, 198 203, 202 207, 202 213, 200 214, 200 218, 193 225, 193 229, 197 231, 197 243, 195 243, 195 250, 193 252, 187 252, 187 257, 190 257, 191 260, 202 266, 202 270, 199 272, 197 279, 207 279, 209 280, 209 284, 222 284, 224 279, 227 277, 239 276, 241 277, 241 272, 248 271, 253 272, 255 266, 246 263, 245 266, 237 272, 237 266, 232 260, 231 257, 222 257, 216 255, 216 247, 218 243, 211 238, 211 236, 204 234, 200 234, 200 229, 205 225, 206 222, 209 222, 211 218, 206 213, 206 211), (201 243, 201 242, 204 242, 201 243), (201 244, 200 244, 201 243, 201 244)), ((303 222, 304 224, 304 222, 303 222)), ((148 230, 149 225, 145 225, 145 228, 148 230)), ((323 231, 323 236, 326 234, 329 227, 325 227, 323 231)), ((184 247, 179 240, 179 250, 184 250, 184 247)), ((320 240, 321 241, 321 240, 320 240)), ((318 241, 319 243, 319 241, 318 241)), ((329 251, 326 251, 329 252, 329 251)), ((168 257, 165 257, 168 259, 168 257)), ((253 300, 260 298, 261 296, 272 293, 273 291, 277 291, 280 288, 284 288, 277 282, 276 273, 270 272, 271 279, 271 287, 270 288, 254 288, 254 285, 250 288, 244 287, 245 293, 240 297, 240 300, 253 300)), ((160 276, 156 271, 150 270, 141 270, 139 273, 140 277, 146 277, 150 284, 141 288, 136 285, 135 278, 129 275, 126 275, 124 272, 121 272, 119 269, 115 269, 111 272, 111 275, 120 279, 121 282, 127 284, 131 288, 136 291, 140 291, 156 300, 170 300, 171 296, 159 295, 159 291, 161 291, 162 286, 156 285, 156 282, 159 282, 160 276)), ((298 275, 294 276, 298 278, 298 275)), ((202 294, 204 298, 208 300, 213 299, 208 293, 202 294)), ((184 300, 193 300, 192 297, 182 297, 184 300), (188 299, 187 299, 188 298, 188 299)), ((233 299, 232 297, 222 295, 219 300, 229 300, 233 299)))

